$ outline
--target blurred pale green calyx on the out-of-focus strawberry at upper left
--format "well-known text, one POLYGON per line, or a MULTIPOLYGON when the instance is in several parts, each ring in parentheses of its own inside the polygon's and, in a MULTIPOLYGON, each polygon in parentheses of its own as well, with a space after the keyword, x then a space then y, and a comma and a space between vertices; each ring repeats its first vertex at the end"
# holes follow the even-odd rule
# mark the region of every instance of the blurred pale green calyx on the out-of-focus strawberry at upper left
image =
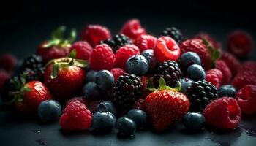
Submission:
POLYGON ((64 32, 66 31, 66 26, 60 26, 51 34, 51 39, 43 45, 42 47, 48 48, 53 45, 58 45, 60 47, 71 47, 72 42, 75 41, 77 36, 75 28, 70 31, 69 37, 64 38, 64 32))

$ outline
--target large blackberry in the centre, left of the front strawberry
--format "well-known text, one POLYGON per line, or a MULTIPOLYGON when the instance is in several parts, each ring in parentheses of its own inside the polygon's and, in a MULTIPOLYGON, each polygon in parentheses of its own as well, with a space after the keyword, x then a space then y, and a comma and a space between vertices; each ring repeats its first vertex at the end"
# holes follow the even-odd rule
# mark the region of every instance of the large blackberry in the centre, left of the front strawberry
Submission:
POLYGON ((143 83, 135 74, 123 74, 113 86, 112 101, 118 109, 129 109, 141 96, 143 83))

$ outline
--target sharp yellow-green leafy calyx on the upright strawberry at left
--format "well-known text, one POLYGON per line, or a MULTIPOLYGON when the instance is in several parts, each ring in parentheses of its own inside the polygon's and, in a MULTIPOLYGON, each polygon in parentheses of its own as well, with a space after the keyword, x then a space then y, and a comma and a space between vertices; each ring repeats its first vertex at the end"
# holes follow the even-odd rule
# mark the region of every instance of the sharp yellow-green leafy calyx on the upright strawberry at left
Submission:
POLYGON ((50 74, 50 78, 55 79, 59 74, 59 69, 70 66, 78 66, 84 68, 88 65, 88 61, 67 57, 53 59, 52 61, 49 61, 46 66, 49 66, 50 64, 53 64, 53 70, 50 74))

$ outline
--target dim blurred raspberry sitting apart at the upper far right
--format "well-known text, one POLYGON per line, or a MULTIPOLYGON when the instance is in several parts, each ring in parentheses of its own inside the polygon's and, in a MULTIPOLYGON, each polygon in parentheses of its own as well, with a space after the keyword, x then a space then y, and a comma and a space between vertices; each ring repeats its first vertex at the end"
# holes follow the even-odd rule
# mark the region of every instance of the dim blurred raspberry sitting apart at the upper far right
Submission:
POLYGON ((246 57, 254 46, 250 34, 245 31, 233 31, 227 39, 227 50, 236 57, 246 57))

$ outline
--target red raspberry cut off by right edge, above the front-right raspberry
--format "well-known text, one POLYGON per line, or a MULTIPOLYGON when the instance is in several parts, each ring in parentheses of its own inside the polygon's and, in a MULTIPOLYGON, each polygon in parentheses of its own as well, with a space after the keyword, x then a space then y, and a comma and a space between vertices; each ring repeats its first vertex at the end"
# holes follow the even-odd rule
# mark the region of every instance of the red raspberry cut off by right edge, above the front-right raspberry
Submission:
POLYGON ((236 100, 245 114, 256 113, 256 85, 245 85, 236 93, 236 100))

